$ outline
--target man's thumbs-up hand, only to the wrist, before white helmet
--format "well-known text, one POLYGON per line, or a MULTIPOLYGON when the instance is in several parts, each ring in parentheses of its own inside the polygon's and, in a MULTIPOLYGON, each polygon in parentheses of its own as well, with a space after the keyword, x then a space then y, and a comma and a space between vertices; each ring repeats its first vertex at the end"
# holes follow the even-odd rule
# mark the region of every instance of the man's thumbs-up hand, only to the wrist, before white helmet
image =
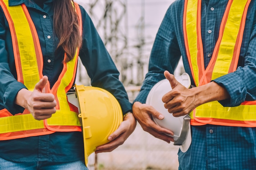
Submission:
POLYGON ((169 80, 172 87, 172 90, 162 97, 164 107, 175 117, 189 114, 195 108, 195 95, 191 89, 180 84, 174 75, 168 71, 164 72, 164 76, 169 80))

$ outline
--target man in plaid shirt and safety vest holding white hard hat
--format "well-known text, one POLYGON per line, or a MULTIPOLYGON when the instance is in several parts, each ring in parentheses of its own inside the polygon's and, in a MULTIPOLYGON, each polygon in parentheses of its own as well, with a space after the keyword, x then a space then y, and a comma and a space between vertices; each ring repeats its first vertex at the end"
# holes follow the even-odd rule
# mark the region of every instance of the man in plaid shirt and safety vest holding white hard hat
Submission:
POLYGON ((169 80, 164 107, 191 117, 192 142, 178 152, 180 170, 256 169, 255 11, 256 0, 176 0, 164 16, 132 109, 145 131, 173 141, 173 132, 151 119, 164 116, 145 104, 150 89, 169 80), (192 88, 172 75, 181 56, 192 88))

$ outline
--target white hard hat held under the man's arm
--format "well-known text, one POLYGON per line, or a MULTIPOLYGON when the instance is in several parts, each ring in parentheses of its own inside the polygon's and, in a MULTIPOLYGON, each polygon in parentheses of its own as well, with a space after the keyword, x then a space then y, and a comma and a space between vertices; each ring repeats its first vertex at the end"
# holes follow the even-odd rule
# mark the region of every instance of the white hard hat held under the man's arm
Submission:
MULTIPOLYGON (((175 79, 187 88, 191 86, 191 80, 187 73, 183 73, 181 76, 175 77, 175 79)), ((168 79, 161 80, 148 93, 146 104, 153 106, 164 115, 164 119, 159 120, 153 117, 153 121, 162 128, 171 130, 174 133, 172 136, 174 145, 180 146, 180 150, 186 152, 191 144, 190 117, 189 115, 174 117, 164 108, 162 97, 171 90, 171 84, 168 79)))

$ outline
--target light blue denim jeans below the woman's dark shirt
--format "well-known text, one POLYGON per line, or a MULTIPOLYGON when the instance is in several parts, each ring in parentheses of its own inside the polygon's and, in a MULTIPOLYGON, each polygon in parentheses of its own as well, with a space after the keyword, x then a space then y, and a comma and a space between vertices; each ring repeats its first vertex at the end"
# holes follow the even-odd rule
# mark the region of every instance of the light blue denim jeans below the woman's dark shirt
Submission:
POLYGON ((0 170, 88 170, 84 160, 75 162, 12 162, 0 158, 0 170))

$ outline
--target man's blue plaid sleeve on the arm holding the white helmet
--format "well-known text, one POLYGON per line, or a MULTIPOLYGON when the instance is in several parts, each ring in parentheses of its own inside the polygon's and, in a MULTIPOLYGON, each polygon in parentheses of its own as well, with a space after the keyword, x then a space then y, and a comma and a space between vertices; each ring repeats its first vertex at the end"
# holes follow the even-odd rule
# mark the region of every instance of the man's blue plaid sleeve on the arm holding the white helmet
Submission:
POLYGON ((141 91, 134 102, 145 103, 150 89, 160 80, 165 79, 164 71, 174 73, 180 60, 181 52, 175 33, 172 5, 167 10, 164 19, 157 31, 155 42, 150 54, 148 73, 141 86, 141 91))

